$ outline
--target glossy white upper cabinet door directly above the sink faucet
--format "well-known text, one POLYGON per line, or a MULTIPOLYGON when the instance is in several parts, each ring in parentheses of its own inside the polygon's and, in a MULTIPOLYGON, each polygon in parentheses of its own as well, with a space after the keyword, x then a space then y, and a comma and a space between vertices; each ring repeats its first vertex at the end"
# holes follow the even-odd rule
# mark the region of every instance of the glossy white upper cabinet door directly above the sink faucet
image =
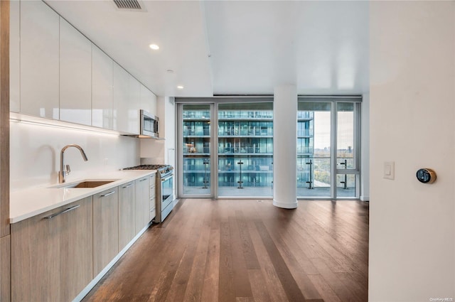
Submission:
POLYGON ((92 124, 92 43, 60 18, 60 120, 92 124))

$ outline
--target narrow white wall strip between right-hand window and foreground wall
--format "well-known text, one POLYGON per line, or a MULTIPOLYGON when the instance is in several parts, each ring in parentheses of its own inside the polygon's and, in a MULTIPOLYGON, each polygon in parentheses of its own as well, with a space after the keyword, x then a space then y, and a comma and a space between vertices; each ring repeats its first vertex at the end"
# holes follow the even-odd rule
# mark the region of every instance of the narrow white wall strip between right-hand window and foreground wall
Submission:
POLYGON ((370 200, 370 94, 362 97, 360 200, 370 200))

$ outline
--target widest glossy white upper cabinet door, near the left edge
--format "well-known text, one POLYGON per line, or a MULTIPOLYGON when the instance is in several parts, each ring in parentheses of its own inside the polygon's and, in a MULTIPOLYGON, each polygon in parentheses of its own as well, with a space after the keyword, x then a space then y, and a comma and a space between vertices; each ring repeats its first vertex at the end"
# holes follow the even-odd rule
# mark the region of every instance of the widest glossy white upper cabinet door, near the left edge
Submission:
POLYGON ((58 119, 59 16, 21 1, 21 113, 58 119))

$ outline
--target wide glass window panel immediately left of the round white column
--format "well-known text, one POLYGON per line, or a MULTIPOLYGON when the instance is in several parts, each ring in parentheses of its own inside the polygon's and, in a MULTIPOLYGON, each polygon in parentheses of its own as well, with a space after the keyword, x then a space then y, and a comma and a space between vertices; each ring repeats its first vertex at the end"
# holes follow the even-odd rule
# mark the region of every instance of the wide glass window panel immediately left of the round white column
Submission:
POLYGON ((273 104, 218 104, 218 196, 272 197, 273 104))

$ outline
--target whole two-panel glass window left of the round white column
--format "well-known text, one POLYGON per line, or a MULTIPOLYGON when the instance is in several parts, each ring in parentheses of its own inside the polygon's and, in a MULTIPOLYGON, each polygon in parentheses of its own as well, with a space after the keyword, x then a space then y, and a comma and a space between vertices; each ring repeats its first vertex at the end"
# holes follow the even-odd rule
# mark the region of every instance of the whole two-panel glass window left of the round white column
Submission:
POLYGON ((272 197, 272 99, 178 104, 178 121, 179 195, 272 197))

